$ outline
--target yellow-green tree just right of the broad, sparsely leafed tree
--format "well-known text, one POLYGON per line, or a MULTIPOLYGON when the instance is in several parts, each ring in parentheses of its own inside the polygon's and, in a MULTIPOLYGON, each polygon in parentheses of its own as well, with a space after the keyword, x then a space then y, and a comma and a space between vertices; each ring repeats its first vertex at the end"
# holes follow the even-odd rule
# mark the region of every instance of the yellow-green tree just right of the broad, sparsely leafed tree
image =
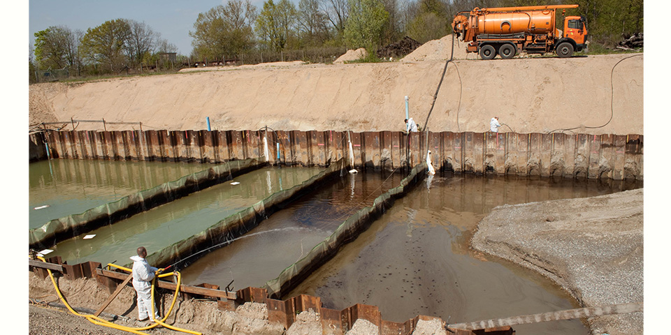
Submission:
POLYGON ((289 0, 264 3, 264 9, 257 17, 256 30, 266 49, 281 51, 287 46, 289 39, 294 37, 296 15, 296 7, 289 0))

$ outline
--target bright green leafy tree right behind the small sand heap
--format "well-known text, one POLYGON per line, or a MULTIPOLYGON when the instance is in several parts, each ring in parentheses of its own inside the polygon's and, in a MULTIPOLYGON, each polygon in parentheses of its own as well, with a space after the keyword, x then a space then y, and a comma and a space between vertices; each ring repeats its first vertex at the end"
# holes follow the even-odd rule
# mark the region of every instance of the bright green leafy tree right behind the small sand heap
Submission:
POLYGON ((347 46, 365 47, 368 52, 374 52, 388 20, 389 13, 380 0, 349 0, 349 18, 345 24, 347 46))

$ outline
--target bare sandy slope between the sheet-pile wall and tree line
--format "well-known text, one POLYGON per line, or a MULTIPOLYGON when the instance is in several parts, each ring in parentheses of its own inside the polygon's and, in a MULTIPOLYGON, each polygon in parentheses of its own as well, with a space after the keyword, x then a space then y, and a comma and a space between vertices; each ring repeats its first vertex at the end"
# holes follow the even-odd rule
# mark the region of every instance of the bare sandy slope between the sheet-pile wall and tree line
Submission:
MULTIPOLYGON (((213 130, 397 131, 405 128, 409 96, 410 117, 424 126, 451 54, 449 39, 379 64, 283 62, 34 84, 29 122, 105 119, 142 122, 145 130, 202 130, 209 117, 213 130)), ((463 43, 457 46, 431 112, 431 131, 482 132, 498 116, 508 126, 501 131, 518 133, 643 133, 643 54, 482 61, 466 55, 463 43)), ((139 127, 107 126, 132 128, 139 127)))

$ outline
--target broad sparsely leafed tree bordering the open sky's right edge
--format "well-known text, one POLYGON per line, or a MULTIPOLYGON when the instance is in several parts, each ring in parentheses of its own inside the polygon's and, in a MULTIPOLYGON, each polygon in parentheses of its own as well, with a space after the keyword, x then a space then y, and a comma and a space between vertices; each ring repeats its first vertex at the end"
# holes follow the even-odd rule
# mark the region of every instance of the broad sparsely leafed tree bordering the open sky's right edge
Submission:
POLYGON ((201 59, 220 59, 252 50, 256 17, 257 8, 249 0, 231 0, 200 13, 194 31, 189 31, 194 38, 192 54, 201 59))

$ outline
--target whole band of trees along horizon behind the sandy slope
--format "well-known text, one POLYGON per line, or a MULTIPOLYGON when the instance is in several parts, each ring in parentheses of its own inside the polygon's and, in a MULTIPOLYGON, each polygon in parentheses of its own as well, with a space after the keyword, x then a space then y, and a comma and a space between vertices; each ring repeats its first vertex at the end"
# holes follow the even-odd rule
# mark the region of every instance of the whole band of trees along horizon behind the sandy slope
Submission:
POLYGON ((38 31, 29 64, 31 73, 67 68, 80 76, 205 60, 329 62, 347 49, 364 47, 374 55, 404 36, 419 43, 442 38, 452 34, 452 18, 463 10, 558 4, 578 4, 566 15, 586 17, 591 43, 606 48, 643 32, 643 0, 298 0, 297 6, 266 0, 261 8, 229 0, 199 13, 189 30, 188 57, 162 57, 177 47, 145 22, 118 18, 87 31, 64 24, 38 31))

